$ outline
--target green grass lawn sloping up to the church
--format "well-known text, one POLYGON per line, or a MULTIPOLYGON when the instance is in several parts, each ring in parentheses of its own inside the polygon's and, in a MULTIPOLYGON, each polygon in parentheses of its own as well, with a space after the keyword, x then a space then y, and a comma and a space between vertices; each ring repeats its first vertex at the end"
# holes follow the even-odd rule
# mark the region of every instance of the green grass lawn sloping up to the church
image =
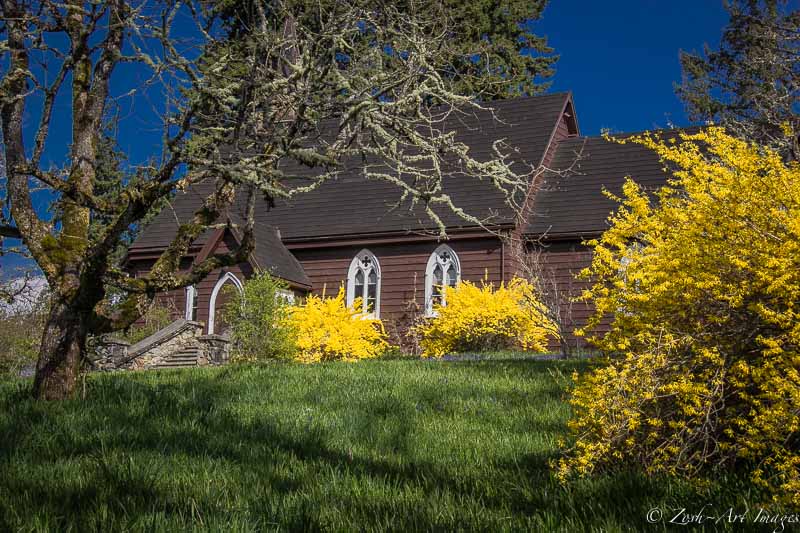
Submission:
POLYGON ((585 364, 93 375, 85 399, 52 404, 6 382, 0 531, 663 531, 649 509, 757 505, 724 480, 702 492, 635 474, 559 485, 548 462, 563 387, 585 364))

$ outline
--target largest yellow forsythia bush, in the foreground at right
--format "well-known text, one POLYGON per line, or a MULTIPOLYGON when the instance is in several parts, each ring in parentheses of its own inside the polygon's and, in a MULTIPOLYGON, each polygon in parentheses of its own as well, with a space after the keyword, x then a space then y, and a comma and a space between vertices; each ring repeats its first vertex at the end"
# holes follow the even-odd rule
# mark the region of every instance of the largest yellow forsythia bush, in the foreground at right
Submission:
POLYGON ((800 506, 800 166, 719 128, 678 141, 626 141, 677 170, 657 199, 628 181, 592 243, 609 358, 576 376, 559 474, 737 468, 800 506))

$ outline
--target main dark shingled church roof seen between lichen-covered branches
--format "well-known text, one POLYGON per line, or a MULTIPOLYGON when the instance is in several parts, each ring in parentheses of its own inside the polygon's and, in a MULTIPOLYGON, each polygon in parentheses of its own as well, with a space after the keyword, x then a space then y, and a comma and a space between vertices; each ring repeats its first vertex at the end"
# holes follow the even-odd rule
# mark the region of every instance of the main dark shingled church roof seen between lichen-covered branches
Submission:
MULTIPOLYGON (((570 99, 568 93, 559 93, 493 102, 491 106, 496 110, 500 122, 491 120, 488 115, 459 116, 452 119, 452 129, 457 132, 459 140, 470 146, 470 153, 476 159, 490 158, 492 142, 505 139, 508 145, 519 149, 520 157, 526 163, 538 165, 570 99)), ((178 193, 172 207, 162 211, 145 228, 131 252, 166 247, 176 233, 178 221, 191 217, 212 187, 211 183, 203 183, 178 193)), ((505 204, 504 195, 490 183, 448 176, 444 190, 455 205, 467 213, 489 219, 490 223, 513 222, 513 213, 505 204)), ((280 202, 271 210, 267 209, 265 203, 260 203, 256 209, 257 226, 278 228, 284 240, 435 228, 435 224, 420 209, 411 212, 407 206, 401 206, 389 211, 399 195, 399 190, 389 183, 365 181, 357 170, 343 172, 337 180, 289 202, 280 202)), ((436 211, 448 228, 467 225, 448 208, 440 207, 436 211)), ((262 239, 266 239, 265 243, 269 241, 268 234, 272 235, 267 231, 260 232, 257 249, 261 247, 262 239)), ((204 242, 207 237, 208 234, 198 241, 204 242)), ((265 248, 269 249, 269 245, 265 248)), ((262 267, 267 268, 266 265, 272 264, 265 255, 267 250, 257 253, 264 261, 262 267)))

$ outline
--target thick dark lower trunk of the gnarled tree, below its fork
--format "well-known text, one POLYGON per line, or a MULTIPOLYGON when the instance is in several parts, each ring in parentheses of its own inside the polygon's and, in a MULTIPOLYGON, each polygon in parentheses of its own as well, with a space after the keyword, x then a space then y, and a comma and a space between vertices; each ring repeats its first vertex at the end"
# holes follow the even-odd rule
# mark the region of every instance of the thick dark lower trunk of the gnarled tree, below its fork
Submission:
POLYGON ((50 308, 36 363, 33 395, 40 400, 72 396, 86 347, 86 321, 77 309, 63 302, 50 308))

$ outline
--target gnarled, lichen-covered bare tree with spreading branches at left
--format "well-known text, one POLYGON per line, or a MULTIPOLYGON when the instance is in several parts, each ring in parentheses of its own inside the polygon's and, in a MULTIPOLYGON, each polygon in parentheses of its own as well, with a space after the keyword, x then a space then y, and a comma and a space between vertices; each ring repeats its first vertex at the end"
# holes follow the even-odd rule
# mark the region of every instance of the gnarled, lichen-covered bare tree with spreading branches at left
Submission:
MULTIPOLYGON (((256 194, 291 198, 355 166, 364 179, 394 184, 399 202, 443 231, 434 207, 482 222, 453 203, 444 176, 490 182, 513 205, 533 172, 511 164, 513 147, 501 139, 477 159, 444 127, 459 114, 491 120, 485 101, 511 75, 498 66, 497 76, 484 76, 474 59, 487 58, 493 71, 498 44, 481 35, 466 47, 466 36, 477 34, 460 3, 256 2, 252 27, 233 40, 214 5, 200 0, 2 0, 0 7, 0 59, 8 66, 0 79, 7 200, 0 235, 21 237, 55 296, 34 380, 41 398, 71 394, 89 336, 127 328, 159 292, 247 260, 256 194), (112 84, 122 64, 140 75, 112 84), (158 100, 160 153, 127 161, 126 181, 109 186, 119 167, 112 161, 104 170, 100 132, 111 107, 142 93, 158 100), (55 113, 62 96, 69 112, 55 113), (56 142, 55 115, 68 121, 71 143, 57 147, 68 157, 52 163, 44 156, 56 142), (178 221, 152 269, 131 276, 115 251, 132 228, 175 191, 201 182, 212 192, 178 221), (53 217, 35 205, 42 189, 55 198, 53 217), (197 238, 220 227, 239 246, 182 268, 197 238)), ((494 16, 506 15, 517 16, 494 16)), ((536 68, 545 63, 547 75, 546 61, 536 68)))

